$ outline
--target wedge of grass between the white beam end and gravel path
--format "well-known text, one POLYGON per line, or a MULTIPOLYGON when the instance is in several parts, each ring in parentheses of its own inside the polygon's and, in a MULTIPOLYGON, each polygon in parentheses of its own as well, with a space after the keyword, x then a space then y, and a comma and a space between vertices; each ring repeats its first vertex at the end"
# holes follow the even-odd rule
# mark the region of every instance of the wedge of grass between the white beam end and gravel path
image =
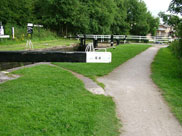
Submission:
MULTIPOLYGON (((96 64, 96 63, 54 63, 60 67, 83 74, 91 79, 96 79, 97 76, 104 76, 128 59, 136 56, 140 52, 146 50, 149 45, 120 45, 116 49, 108 49, 112 52, 112 63, 96 64)), ((103 87, 103 85, 102 85, 103 87)))

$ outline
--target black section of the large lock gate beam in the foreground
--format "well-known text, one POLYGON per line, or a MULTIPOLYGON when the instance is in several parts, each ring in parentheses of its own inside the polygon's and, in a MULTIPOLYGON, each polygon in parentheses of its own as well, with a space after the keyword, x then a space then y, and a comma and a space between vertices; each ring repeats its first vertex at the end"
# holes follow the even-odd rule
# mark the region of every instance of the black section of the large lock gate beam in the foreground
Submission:
POLYGON ((60 51, 0 51, 0 62, 86 62, 86 53, 60 51))

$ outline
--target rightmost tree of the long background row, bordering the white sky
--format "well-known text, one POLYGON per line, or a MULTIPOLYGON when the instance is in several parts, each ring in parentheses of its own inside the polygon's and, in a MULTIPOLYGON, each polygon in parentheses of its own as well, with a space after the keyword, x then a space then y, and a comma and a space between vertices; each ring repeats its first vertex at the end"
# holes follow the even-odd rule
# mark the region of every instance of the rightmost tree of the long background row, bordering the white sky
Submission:
POLYGON ((154 35, 159 23, 158 19, 147 11, 142 0, 127 0, 127 22, 130 24, 130 33, 134 35, 154 35))

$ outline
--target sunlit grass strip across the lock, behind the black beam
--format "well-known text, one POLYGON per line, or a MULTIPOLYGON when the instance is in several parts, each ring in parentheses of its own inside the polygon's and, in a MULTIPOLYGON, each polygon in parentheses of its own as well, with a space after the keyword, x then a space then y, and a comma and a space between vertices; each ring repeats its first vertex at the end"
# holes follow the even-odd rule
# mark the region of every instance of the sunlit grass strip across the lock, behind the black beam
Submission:
MULTIPOLYGON (((54 39, 54 40, 32 40, 32 43, 34 45, 34 49, 44 49, 44 48, 51 48, 55 46, 69 46, 71 44, 79 43, 77 40, 70 40, 70 39, 54 39)), ((0 50, 1 51, 13 51, 13 50, 25 50, 26 41, 4 41, 0 42, 0 50)))

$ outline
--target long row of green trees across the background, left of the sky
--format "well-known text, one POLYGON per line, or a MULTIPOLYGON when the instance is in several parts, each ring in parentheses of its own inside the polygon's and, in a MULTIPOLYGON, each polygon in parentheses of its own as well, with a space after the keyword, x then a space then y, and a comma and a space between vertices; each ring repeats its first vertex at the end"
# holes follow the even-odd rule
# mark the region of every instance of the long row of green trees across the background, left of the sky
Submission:
POLYGON ((0 21, 39 23, 60 35, 155 35, 159 25, 142 0, 1 0, 0 21))

